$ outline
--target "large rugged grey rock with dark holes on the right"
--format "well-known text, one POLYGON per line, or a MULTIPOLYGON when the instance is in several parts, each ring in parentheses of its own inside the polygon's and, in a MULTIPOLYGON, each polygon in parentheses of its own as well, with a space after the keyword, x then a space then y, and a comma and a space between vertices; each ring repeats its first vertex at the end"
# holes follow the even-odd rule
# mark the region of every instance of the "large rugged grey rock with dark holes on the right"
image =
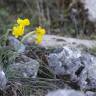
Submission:
POLYGON ((49 67, 58 76, 69 75, 81 89, 96 88, 96 57, 77 48, 64 46, 48 56, 49 67))

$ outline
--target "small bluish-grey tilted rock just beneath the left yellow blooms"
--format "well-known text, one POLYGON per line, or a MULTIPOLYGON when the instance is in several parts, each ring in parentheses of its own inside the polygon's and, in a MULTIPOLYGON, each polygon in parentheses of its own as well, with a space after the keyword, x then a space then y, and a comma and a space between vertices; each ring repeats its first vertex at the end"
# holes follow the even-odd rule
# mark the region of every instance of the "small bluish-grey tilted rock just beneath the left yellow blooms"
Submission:
POLYGON ((15 51, 17 51, 18 53, 23 53, 25 51, 25 46, 23 45, 23 43, 21 43, 15 37, 9 36, 8 40, 9 40, 9 46, 14 48, 15 51))

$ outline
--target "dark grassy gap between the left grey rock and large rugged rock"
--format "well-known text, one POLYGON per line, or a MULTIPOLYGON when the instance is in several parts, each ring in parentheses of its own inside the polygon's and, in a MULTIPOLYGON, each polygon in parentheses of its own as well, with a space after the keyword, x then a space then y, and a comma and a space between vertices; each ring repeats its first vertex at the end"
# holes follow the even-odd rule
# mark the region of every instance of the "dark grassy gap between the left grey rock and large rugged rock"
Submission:
POLYGON ((28 57, 36 59, 40 63, 38 76, 40 78, 54 79, 55 75, 48 67, 48 61, 46 57, 52 51, 52 49, 47 50, 43 47, 33 44, 28 46, 26 50, 28 50, 25 52, 28 57))

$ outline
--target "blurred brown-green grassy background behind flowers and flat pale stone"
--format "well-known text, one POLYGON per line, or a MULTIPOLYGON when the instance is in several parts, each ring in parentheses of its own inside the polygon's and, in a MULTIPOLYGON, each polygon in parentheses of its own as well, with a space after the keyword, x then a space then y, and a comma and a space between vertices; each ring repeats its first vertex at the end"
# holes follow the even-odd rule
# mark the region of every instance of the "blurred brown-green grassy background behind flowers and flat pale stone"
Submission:
POLYGON ((48 34, 96 39, 95 23, 81 0, 0 0, 0 33, 12 28, 18 17, 30 19, 26 32, 41 25, 48 34))

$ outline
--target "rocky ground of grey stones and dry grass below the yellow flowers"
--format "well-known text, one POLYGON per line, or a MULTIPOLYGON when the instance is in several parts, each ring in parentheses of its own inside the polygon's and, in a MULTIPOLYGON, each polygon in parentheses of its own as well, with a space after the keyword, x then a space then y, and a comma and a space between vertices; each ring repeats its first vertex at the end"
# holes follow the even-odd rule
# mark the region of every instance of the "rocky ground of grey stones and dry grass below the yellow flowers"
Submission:
POLYGON ((86 51, 96 41, 45 35, 39 46, 14 37, 9 45, 18 55, 0 96, 96 96, 96 56, 86 51))

